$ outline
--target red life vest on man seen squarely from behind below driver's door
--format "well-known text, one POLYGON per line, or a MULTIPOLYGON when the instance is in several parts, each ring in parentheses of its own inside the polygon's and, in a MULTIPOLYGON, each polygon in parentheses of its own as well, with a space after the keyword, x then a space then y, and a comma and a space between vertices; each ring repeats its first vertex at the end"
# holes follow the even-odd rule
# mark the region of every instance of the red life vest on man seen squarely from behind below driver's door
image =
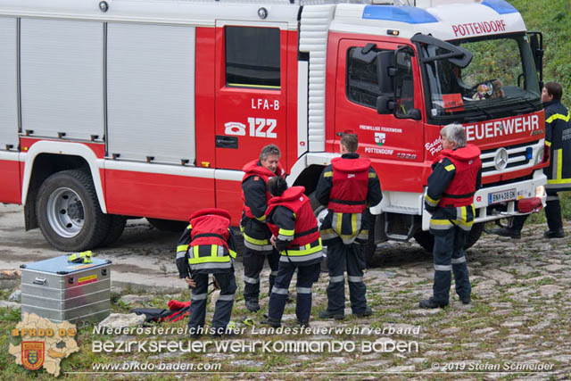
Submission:
POLYGON ((361 213, 365 210, 368 191, 368 169, 371 161, 365 158, 331 161, 333 186, 328 209, 340 213, 361 213))

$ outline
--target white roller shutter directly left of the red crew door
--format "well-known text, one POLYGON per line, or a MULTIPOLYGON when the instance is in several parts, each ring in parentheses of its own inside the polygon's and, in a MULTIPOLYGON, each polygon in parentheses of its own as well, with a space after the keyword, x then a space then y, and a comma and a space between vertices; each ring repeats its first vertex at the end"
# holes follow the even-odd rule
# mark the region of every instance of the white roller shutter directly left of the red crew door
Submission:
POLYGON ((194 39, 192 27, 108 24, 110 154, 194 162, 194 39))

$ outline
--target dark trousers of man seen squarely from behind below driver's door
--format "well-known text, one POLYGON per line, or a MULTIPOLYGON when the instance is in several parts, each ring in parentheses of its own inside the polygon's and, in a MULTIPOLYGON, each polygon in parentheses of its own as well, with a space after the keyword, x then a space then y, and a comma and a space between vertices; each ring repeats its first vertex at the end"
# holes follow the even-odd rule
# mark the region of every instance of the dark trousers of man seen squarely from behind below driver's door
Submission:
POLYGON ((343 244, 340 238, 327 244, 327 269, 329 270, 329 286, 327 286, 327 311, 343 315, 345 310, 345 278, 347 270, 349 281, 349 297, 353 313, 360 313, 367 308, 367 286, 363 282, 365 256, 360 244, 343 244))

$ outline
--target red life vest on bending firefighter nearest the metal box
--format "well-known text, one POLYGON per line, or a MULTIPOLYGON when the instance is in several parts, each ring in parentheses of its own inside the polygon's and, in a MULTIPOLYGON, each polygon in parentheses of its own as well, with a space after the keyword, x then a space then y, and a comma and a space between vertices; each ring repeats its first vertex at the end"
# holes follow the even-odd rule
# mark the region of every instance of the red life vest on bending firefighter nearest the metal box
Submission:
POLYGON ((206 208, 194 211, 190 216, 192 232, 190 246, 199 244, 218 244, 228 249, 230 233, 230 213, 223 209, 206 208))

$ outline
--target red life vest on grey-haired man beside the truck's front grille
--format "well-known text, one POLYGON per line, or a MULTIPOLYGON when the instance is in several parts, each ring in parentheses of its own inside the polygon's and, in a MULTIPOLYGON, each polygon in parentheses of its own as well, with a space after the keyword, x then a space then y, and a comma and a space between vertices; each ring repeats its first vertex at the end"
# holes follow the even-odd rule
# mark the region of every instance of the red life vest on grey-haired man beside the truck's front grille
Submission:
POLYGON ((443 193, 438 206, 444 208, 468 206, 474 202, 476 178, 482 168, 480 149, 476 145, 466 145, 454 151, 443 150, 437 161, 449 159, 456 167, 456 174, 443 193))

